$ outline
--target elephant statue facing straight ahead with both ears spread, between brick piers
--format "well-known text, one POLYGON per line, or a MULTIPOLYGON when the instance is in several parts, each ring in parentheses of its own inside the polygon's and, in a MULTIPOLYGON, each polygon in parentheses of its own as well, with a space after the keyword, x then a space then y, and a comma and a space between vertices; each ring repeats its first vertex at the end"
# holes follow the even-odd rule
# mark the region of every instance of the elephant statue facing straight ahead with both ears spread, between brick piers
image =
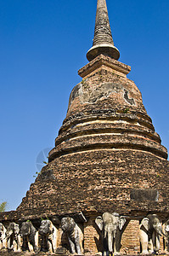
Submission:
MULTIPOLYGON (((109 212, 104 212, 104 214, 99 216, 98 218, 95 219, 95 223, 98 225, 99 230, 102 231, 102 234, 104 236, 104 250, 108 250, 110 253, 114 253, 116 251, 115 249, 115 238, 116 238, 116 233, 117 231, 121 231, 124 224, 126 223, 126 218, 120 217, 118 213, 109 213, 109 212), (113 248, 114 247, 114 248, 113 248)), ((120 242, 120 241, 119 241, 120 242)))

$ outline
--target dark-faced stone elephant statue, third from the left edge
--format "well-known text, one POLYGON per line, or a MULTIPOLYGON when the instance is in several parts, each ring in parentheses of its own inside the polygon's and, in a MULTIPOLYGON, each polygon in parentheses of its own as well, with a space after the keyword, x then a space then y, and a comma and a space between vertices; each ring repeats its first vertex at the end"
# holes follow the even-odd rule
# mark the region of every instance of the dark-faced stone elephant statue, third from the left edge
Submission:
POLYGON ((22 250, 28 250, 30 253, 38 252, 38 231, 31 221, 25 221, 20 228, 20 234, 23 239, 22 250))

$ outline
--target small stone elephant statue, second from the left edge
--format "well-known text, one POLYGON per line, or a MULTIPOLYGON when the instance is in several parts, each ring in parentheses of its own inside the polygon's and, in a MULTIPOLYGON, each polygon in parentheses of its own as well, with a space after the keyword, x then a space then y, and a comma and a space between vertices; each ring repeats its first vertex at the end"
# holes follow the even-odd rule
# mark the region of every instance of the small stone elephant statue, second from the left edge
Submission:
POLYGON ((8 251, 20 253, 20 227, 14 222, 8 225, 7 229, 8 251))

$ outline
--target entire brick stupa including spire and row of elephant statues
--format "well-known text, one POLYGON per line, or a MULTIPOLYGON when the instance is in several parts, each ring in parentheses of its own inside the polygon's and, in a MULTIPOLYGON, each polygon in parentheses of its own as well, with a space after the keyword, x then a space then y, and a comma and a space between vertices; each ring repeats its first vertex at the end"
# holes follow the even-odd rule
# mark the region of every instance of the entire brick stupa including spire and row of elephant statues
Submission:
POLYGON ((119 56, 98 0, 89 63, 48 165, 17 210, 0 214, 0 255, 169 251, 167 150, 119 56))

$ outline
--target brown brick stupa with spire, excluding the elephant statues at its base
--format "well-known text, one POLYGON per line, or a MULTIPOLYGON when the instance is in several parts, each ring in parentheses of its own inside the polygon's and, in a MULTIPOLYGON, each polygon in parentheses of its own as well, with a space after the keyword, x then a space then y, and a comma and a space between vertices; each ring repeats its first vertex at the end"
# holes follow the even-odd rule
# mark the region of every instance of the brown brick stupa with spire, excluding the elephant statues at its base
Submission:
POLYGON ((1 219, 85 216, 84 249, 97 253, 94 218, 119 212, 128 219, 121 243, 127 244, 127 253, 136 253, 139 219, 149 212, 161 220, 169 217, 167 150, 138 87, 127 79, 131 67, 119 62, 119 56, 105 0, 98 0, 90 62, 78 71, 82 82, 70 93, 48 165, 17 210, 1 219))

